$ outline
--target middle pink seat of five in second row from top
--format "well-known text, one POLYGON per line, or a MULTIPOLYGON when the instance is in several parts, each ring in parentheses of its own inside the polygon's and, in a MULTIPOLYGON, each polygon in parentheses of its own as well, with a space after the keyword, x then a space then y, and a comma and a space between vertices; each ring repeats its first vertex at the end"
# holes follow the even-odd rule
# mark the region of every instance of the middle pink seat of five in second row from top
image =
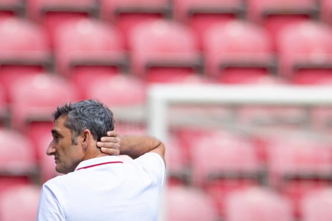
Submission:
POLYGON ((140 24, 129 42, 133 72, 147 82, 186 78, 201 68, 194 35, 180 24, 162 20, 140 24))

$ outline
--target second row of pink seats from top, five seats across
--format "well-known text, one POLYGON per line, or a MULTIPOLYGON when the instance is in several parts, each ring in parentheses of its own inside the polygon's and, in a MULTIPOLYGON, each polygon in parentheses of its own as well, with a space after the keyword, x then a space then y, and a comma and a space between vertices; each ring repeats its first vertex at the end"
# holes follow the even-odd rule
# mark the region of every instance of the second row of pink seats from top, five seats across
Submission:
POLYGON ((332 31, 319 23, 285 28, 277 57, 263 29, 240 21, 211 27, 204 38, 204 59, 192 32, 165 20, 133 30, 129 62, 120 34, 98 21, 68 22, 55 33, 52 51, 38 26, 17 19, 0 22, 5 92, 21 76, 52 70, 52 64, 81 88, 99 76, 126 72, 128 66, 146 82, 206 82, 209 77, 222 83, 330 84, 332 79, 332 31), (204 74, 198 74, 202 69, 204 74))

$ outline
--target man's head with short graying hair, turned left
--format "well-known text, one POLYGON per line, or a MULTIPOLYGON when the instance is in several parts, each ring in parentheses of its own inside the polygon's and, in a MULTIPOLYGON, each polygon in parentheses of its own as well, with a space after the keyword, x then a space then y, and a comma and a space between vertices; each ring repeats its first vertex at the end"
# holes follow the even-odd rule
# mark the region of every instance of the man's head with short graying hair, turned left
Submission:
POLYGON ((113 131, 113 113, 96 100, 82 100, 57 107, 53 114, 53 140, 47 155, 54 155, 56 171, 72 172, 83 160, 100 153, 97 141, 113 131))

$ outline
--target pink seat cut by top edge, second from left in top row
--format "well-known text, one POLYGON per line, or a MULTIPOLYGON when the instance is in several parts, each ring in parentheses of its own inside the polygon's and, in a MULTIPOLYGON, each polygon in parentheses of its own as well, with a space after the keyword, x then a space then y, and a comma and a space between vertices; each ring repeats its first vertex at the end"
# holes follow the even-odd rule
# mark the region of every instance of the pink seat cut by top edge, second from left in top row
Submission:
POLYGON ((45 27, 50 45, 54 32, 65 22, 97 17, 96 0, 28 0, 28 17, 45 27))

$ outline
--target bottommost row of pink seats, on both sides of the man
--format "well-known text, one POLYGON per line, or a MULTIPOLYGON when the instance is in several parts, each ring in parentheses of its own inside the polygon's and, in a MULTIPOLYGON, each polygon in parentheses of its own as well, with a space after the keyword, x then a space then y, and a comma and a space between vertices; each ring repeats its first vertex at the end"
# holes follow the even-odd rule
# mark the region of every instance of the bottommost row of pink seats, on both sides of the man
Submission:
MULTIPOLYGON (((2 221, 34 220, 39 187, 12 187, 0 197, 2 221), (17 209, 20 208, 20 209, 17 209)), ((303 221, 328 221, 332 218, 332 190, 325 188, 308 193, 301 200, 303 221)), ((168 189, 165 198, 168 221, 216 221, 218 214, 209 196, 193 188, 168 189), (180 206, 181 205, 181 206, 180 206)), ((291 204, 287 198, 266 188, 235 191, 227 197, 225 221, 292 221, 291 204), (240 212, 239 212, 240 211, 240 212)))

